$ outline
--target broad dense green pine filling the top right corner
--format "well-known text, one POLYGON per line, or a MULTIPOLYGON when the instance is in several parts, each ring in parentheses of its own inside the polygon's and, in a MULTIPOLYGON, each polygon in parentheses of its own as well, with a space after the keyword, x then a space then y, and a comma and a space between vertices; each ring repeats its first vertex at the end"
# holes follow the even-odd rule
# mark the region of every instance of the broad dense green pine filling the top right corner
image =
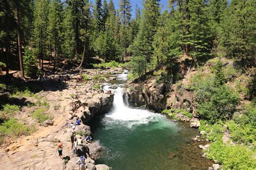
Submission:
POLYGON ((253 0, 231 1, 221 22, 221 45, 227 56, 249 65, 255 57, 255 8, 253 0))

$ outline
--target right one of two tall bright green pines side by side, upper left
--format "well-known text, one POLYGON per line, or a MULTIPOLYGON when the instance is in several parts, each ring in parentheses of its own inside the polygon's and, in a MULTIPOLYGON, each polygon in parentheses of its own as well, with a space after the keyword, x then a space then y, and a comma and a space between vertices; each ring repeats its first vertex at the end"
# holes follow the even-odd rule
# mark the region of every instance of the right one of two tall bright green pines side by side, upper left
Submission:
POLYGON ((54 62, 53 70, 56 69, 56 58, 60 55, 62 46, 62 4, 60 0, 53 0, 50 3, 48 39, 53 46, 54 62))

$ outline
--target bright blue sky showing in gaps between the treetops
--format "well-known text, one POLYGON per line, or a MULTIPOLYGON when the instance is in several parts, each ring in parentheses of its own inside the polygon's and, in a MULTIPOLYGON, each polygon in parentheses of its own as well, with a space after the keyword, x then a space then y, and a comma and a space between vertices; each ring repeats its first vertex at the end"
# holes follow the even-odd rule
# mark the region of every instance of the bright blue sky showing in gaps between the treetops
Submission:
MULTIPOLYGON (((92 0, 93 3, 95 3, 95 0, 92 0)), ((114 2, 114 8, 119 9, 119 0, 113 0, 114 2)), ((102 0, 103 3, 103 0, 102 0)), ((107 0, 107 3, 109 3, 109 0, 107 0)), ((136 4, 139 6, 140 9, 143 8, 143 0, 131 0, 131 5, 132 5, 132 17, 135 16, 135 8, 136 4)), ((163 10, 165 10, 168 7, 168 0, 161 0, 160 4, 163 5, 163 10)), ((161 6, 160 6, 161 7, 161 6)))

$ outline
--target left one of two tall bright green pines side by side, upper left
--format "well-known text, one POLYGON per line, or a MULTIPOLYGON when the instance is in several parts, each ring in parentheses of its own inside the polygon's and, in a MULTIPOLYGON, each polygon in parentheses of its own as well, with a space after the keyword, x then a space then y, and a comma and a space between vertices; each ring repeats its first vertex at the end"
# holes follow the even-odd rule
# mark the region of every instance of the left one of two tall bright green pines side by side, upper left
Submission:
POLYGON ((34 45, 38 51, 39 58, 41 59, 41 69, 44 67, 44 57, 47 56, 47 42, 48 42, 48 14, 49 14, 49 1, 37 0, 35 4, 35 22, 33 30, 34 45))

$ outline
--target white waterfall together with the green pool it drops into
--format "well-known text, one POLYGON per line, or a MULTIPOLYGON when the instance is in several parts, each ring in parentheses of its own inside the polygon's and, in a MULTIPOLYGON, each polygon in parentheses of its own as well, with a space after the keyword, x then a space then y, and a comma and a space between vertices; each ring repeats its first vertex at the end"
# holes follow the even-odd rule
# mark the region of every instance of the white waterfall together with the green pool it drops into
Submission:
POLYGON ((208 169, 212 162, 202 158, 198 135, 185 123, 140 108, 129 108, 122 97, 127 74, 106 84, 104 91, 116 84, 112 110, 91 120, 92 138, 104 147, 96 164, 115 169, 208 169))

